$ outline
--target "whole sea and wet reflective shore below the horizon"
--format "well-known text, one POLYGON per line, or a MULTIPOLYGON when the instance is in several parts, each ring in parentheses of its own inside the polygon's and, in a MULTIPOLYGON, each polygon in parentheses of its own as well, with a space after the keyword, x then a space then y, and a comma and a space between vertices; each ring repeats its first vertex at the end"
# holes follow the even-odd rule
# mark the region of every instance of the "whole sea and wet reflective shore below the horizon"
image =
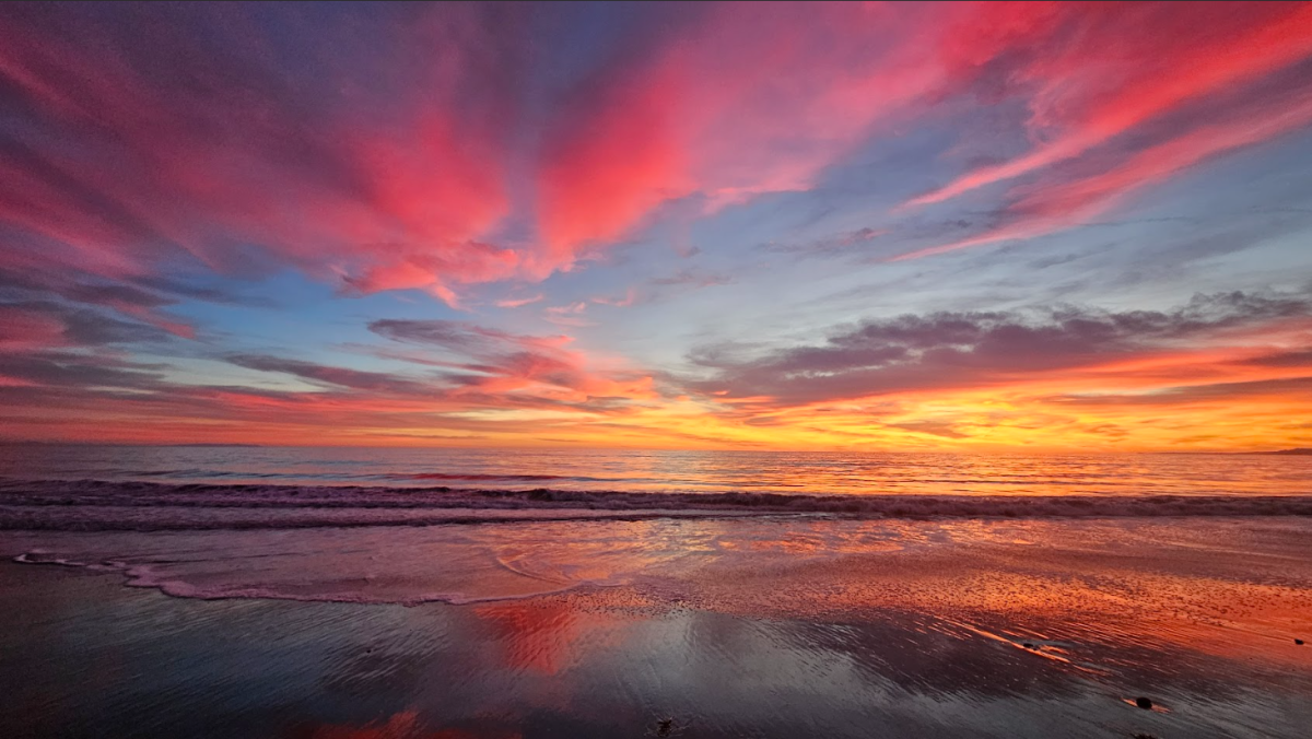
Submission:
POLYGON ((1274 455, 8 446, 0 735, 1295 739, 1309 480, 1274 455))

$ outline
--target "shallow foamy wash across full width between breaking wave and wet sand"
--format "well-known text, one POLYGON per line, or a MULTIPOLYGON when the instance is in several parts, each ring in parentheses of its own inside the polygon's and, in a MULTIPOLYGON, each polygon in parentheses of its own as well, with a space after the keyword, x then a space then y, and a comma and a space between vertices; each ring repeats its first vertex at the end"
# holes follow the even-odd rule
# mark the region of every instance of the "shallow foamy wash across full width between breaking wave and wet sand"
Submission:
MULTIPOLYGON (((905 579, 916 574, 933 580, 976 566, 989 572, 1004 564, 1043 567, 1059 551, 1068 560, 1064 567, 1169 557, 1182 575, 1197 570, 1284 587, 1291 572, 1305 570, 1309 526, 1312 520, 1299 517, 1249 518, 1240 525, 1206 517, 761 516, 733 522, 651 518, 150 534, 9 532, 0 550, 26 566, 115 572, 130 587, 202 600, 475 604, 621 587, 642 593, 635 602, 682 601, 701 591, 771 604, 786 596, 779 583, 824 591, 850 584, 859 574, 886 578, 892 591, 901 592, 905 579), (1265 554, 1253 555, 1254 547, 1265 554)), ((932 583, 921 595, 937 597, 932 583)), ((807 602, 796 601, 803 608, 807 602)))

